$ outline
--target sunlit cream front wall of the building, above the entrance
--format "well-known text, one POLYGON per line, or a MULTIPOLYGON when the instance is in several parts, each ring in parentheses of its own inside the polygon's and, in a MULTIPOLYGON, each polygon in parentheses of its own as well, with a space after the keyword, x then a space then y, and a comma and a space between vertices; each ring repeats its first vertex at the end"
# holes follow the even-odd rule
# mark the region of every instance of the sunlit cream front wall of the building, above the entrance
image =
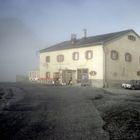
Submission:
MULTIPOLYGON (((53 77, 54 72, 58 72, 59 69, 71 69, 77 70, 79 68, 88 68, 90 71, 96 71, 95 76, 90 76, 89 79, 103 79, 103 48, 102 45, 88 46, 82 48, 74 48, 68 50, 52 51, 40 53, 40 77, 45 78, 46 72, 51 73, 53 77), (87 50, 93 51, 93 58, 87 60, 85 58, 85 52, 87 50), (79 52, 79 60, 72 59, 73 52, 79 52), (57 55, 64 55, 63 62, 57 62, 57 55), (50 63, 46 63, 46 56, 50 56, 50 63)), ((77 78, 77 73, 76 77, 77 78)))

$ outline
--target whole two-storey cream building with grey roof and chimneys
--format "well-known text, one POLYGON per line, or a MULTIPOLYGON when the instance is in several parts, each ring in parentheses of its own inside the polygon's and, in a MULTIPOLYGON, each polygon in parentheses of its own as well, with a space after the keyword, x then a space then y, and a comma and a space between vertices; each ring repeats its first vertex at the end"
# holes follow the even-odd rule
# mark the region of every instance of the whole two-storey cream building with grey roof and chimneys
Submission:
POLYGON ((40 50, 40 78, 79 83, 86 75, 95 87, 140 79, 140 37, 134 30, 64 41, 40 50))

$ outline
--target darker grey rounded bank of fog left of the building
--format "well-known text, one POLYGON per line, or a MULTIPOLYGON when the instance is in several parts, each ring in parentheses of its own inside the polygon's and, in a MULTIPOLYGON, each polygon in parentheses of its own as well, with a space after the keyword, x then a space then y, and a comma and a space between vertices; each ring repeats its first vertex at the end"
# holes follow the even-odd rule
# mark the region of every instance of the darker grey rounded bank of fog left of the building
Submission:
POLYGON ((38 68, 39 40, 18 18, 0 18, 0 81, 15 81, 38 68))

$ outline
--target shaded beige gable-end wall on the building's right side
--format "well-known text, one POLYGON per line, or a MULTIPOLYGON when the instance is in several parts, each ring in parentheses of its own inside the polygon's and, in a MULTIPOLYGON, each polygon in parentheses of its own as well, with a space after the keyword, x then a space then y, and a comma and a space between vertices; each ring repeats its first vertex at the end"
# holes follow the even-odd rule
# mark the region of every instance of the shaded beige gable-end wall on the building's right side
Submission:
POLYGON ((133 32, 136 41, 128 39, 128 34, 106 44, 106 77, 108 80, 132 80, 140 79, 137 71, 140 71, 140 38, 133 32), (111 50, 119 53, 118 60, 111 59, 111 50), (125 53, 132 55, 132 61, 125 61, 125 53))

